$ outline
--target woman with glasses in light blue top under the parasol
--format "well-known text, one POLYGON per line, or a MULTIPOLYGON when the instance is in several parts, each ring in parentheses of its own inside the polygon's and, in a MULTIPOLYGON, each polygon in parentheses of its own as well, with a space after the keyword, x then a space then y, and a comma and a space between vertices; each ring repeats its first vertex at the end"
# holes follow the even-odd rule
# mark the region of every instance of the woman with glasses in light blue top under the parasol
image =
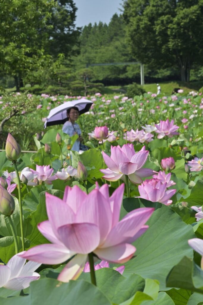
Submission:
POLYGON ((80 150, 80 142, 83 141, 81 137, 81 130, 80 127, 75 121, 79 117, 79 109, 77 107, 72 107, 67 109, 67 117, 68 121, 63 124, 62 131, 72 137, 75 134, 79 135, 79 138, 73 144, 72 150, 76 150, 79 152, 80 150))

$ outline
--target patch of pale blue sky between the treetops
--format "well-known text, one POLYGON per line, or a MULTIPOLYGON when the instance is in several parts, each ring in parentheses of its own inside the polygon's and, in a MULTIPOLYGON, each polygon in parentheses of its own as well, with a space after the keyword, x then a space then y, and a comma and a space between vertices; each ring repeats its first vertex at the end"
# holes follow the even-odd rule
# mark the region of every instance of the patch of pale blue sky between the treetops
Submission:
POLYGON ((109 23, 114 13, 120 14, 122 0, 74 0, 78 10, 76 26, 83 27, 91 23, 109 23))

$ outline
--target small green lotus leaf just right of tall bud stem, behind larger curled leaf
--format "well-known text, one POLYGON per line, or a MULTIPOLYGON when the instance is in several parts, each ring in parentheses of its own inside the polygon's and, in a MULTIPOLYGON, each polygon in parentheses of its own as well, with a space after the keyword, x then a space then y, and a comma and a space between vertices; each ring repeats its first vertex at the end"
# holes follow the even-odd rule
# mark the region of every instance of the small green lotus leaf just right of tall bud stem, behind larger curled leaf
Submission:
POLYGON ((37 209, 39 203, 39 195, 47 188, 44 185, 37 185, 31 188, 30 192, 23 197, 23 215, 28 217, 33 211, 37 209))

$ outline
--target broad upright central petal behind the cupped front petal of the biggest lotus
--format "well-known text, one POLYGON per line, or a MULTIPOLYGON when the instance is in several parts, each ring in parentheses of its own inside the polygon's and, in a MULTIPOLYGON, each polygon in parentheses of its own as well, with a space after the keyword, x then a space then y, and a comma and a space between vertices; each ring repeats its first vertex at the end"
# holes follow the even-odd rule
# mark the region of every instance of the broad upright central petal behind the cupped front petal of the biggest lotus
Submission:
POLYGON ((96 224, 103 240, 109 233, 112 225, 112 212, 110 202, 99 190, 94 189, 86 197, 76 215, 76 222, 89 222, 96 224))

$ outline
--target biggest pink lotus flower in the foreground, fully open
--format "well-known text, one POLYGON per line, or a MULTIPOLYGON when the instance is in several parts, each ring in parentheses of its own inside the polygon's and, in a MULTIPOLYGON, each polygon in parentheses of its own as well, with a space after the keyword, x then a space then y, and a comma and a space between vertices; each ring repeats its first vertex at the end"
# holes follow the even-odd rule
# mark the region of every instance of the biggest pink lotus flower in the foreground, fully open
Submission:
POLYGON ((38 225, 39 231, 52 244, 29 249, 21 256, 42 264, 61 264, 72 258, 58 276, 68 282, 82 272, 88 253, 101 260, 122 264, 131 259, 135 247, 131 242, 142 235, 148 226, 152 208, 139 208, 119 221, 124 184, 109 197, 105 184, 88 195, 77 185, 67 186, 63 200, 46 193, 48 221, 38 225))

